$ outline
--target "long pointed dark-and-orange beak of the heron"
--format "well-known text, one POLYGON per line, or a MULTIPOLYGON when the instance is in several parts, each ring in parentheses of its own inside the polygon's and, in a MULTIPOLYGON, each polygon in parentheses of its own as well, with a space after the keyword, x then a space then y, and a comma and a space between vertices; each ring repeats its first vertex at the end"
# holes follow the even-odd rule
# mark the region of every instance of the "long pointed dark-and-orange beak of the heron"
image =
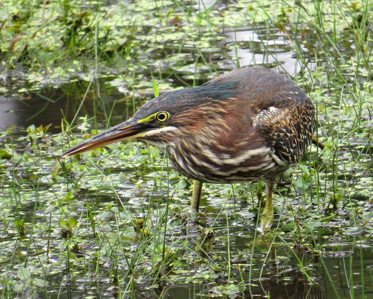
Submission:
POLYGON ((106 131, 103 131, 95 136, 82 141, 76 146, 67 150, 62 158, 67 158, 73 155, 78 155, 88 150, 93 150, 97 147, 102 147, 110 143, 115 143, 120 140, 126 140, 130 138, 141 137, 147 128, 144 124, 139 124, 137 119, 128 119, 128 121, 122 122, 106 131))

